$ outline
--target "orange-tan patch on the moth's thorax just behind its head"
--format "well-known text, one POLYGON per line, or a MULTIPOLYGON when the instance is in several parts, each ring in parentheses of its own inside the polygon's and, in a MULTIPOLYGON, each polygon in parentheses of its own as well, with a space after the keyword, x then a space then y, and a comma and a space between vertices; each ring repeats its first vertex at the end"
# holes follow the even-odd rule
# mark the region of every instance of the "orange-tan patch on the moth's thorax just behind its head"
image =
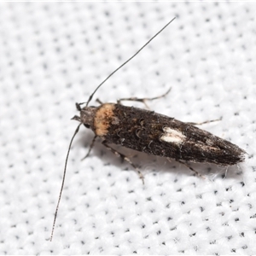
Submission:
POLYGON ((108 128, 112 122, 116 122, 116 117, 113 113, 114 104, 102 104, 96 111, 94 119, 94 129, 97 136, 105 136, 108 134, 108 128))

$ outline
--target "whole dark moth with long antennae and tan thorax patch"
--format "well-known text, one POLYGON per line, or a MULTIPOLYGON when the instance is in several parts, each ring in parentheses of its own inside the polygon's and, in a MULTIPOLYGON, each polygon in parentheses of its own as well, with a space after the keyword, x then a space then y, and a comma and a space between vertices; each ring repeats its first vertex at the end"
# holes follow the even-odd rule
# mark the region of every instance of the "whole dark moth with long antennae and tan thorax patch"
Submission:
MULTIPOLYGON (((166 26, 168 26, 172 20, 168 22, 166 26)), ((164 26, 160 32, 162 32, 166 26, 164 26)), ((148 42, 137 51, 135 55, 132 55, 130 59, 115 69, 113 73, 116 73, 119 68, 125 66, 128 61, 131 61, 131 59, 148 45, 160 32, 157 32, 153 38, 149 39, 148 42)), ((208 131, 199 129, 195 126, 197 125, 195 123, 184 123, 175 118, 160 113, 154 113, 154 111, 143 108, 127 107, 121 103, 125 100, 145 103, 145 100, 154 100, 161 96, 149 99, 120 99, 117 103, 102 103, 97 100, 97 102, 100 103, 100 106, 90 107, 89 103, 96 91, 113 75, 113 73, 96 87, 96 90, 90 95, 84 108, 81 108, 81 105, 84 103, 76 103, 76 108, 79 110, 80 115, 74 116, 73 119, 79 121, 80 124, 74 132, 68 147, 61 192, 55 210, 50 241, 53 237, 55 220, 61 201, 61 193, 66 177, 68 155, 73 143, 73 138, 79 132, 80 125, 84 125, 95 133, 88 154, 90 154, 90 150, 96 141, 96 137, 100 137, 102 138, 102 144, 114 154, 117 154, 128 161, 131 166, 137 170, 142 179, 143 175, 137 169, 137 166, 135 166, 124 154, 120 154, 118 151, 114 150, 110 144, 121 145, 125 148, 131 148, 146 154, 158 155, 165 157, 168 160, 177 160, 186 166, 188 166, 187 162, 207 162, 218 166, 232 166, 245 160, 246 152, 243 149, 220 137, 212 135, 208 131)), ((166 94, 169 91, 170 90, 168 90, 166 94)), ((166 94, 163 96, 166 96, 166 94)), ((87 157, 88 154, 85 157, 87 157)), ((190 166, 188 167, 190 170, 196 172, 190 166)))

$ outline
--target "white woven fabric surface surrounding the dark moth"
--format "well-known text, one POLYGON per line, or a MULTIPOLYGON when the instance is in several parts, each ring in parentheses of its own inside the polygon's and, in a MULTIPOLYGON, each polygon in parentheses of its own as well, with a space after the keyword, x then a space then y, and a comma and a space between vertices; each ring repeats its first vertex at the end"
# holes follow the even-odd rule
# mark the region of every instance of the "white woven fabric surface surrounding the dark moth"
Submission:
POLYGON ((255 11, 256 3, 1 3, 0 253, 255 253, 255 11), (91 104, 172 86, 150 108, 183 121, 222 117, 201 128, 244 148, 246 162, 191 164, 203 180, 119 148, 140 166, 143 186, 100 142, 80 161, 93 137, 81 127, 50 242, 74 103, 174 16, 91 104))

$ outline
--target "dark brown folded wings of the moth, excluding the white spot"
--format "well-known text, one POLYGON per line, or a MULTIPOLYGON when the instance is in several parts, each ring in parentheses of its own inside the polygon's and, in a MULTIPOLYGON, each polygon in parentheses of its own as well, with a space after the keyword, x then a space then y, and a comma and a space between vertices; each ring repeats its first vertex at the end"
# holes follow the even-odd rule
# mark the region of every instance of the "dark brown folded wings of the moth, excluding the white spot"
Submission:
POLYGON ((220 166, 231 166, 244 160, 245 151, 235 144, 160 113, 115 104, 113 115, 119 122, 108 127, 108 134, 104 136, 108 143, 175 160, 220 166), (183 141, 168 143, 160 140, 165 127, 181 132, 183 141))

